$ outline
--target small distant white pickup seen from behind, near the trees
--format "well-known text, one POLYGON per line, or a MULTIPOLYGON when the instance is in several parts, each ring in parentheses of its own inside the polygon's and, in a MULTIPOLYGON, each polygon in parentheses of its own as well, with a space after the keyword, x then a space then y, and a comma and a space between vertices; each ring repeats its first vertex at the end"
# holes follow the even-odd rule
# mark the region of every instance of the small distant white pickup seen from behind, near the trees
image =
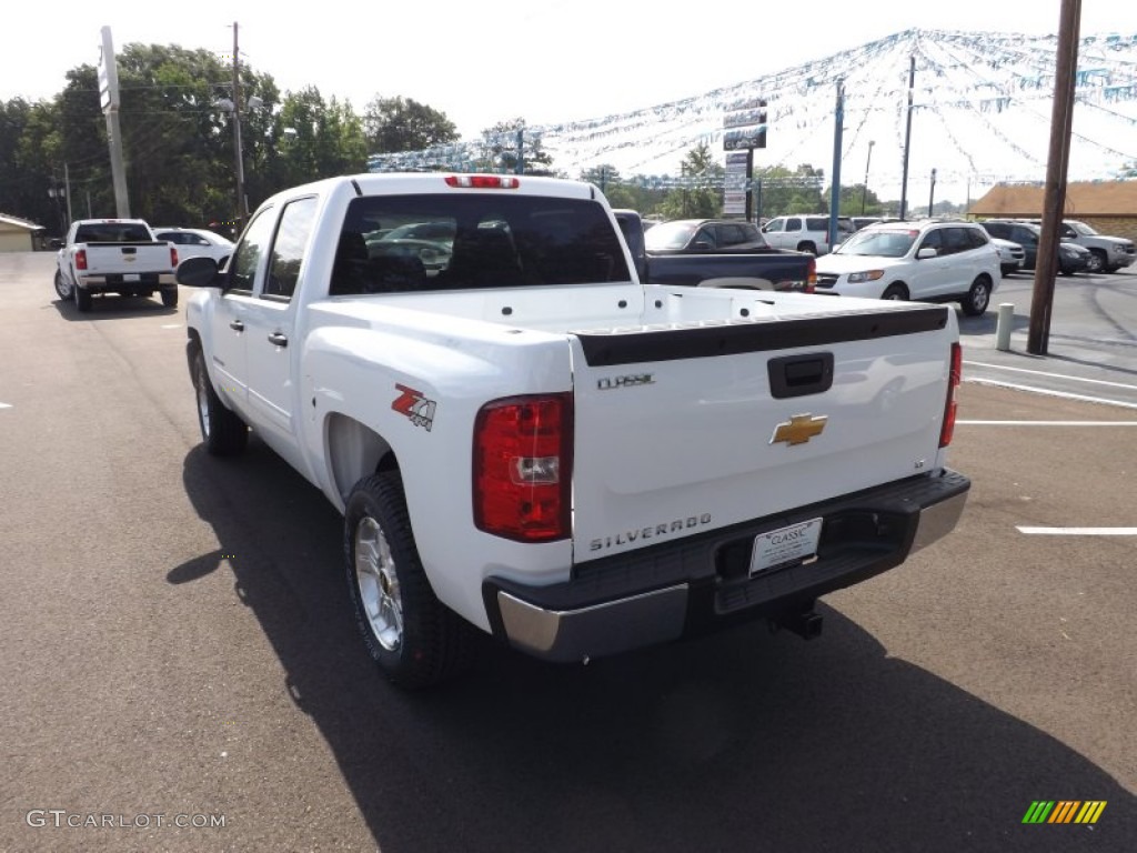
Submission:
POLYGON ((151 297, 177 305, 177 249, 142 220, 76 220, 56 255, 56 293, 91 310, 97 293, 151 297))

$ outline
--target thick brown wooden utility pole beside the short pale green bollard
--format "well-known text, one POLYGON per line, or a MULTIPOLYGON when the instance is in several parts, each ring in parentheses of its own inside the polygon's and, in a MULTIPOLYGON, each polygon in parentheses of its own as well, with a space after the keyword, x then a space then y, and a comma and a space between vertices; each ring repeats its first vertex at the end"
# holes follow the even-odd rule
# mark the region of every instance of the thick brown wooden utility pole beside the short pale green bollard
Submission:
POLYGON ((1054 68, 1054 108, 1051 113, 1051 149, 1046 160, 1046 194, 1043 226, 1035 263, 1035 289, 1030 300, 1027 351, 1046 355, 1054 307, 1054 276, 1057 272, 1059 233, 1065 210, 1067 171, 1070 165, 1070 133, 1078 75, 1078 39, 1081 0, 1062 0, 1059 48, 1054 68))

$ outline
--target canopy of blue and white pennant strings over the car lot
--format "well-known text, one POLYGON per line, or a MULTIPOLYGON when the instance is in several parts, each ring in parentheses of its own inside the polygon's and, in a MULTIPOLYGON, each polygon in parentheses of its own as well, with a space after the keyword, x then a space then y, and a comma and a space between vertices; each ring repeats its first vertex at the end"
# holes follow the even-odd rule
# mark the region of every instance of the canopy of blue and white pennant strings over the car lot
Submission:
MULTIPOLYGON (((1047 157, 1041 129, 1049 123, 1055 49, 1054 36, 910 30, 697 98, 528 127, 525 138, 540 140, 557 172, 576 175, 607 165, 625 180, 659 187, 667 181, 682 185, 683 179, 670 175, 699 144, 716 151, 732 144, 760 149, 756 171, 823 165, 832 157, 833 96, 841 82, 843 162, 864 164, 875 146, 874 182, 898 176, 910 96, 915 174, 933 165, 941 181, 1041 180, 1047 157)), ((1071 180, 1109 179, 1123 164, 1137 162, 1131 132, 1137 124, 1137 34, 1081 39, 1076 98, 1082 109, 1074 116, 1079 144, 1071 157, 1071 180)), ((375 155, 368 168, 492 168, 495 148, 498 154, 512 149, 513 138, 512 132, 483 134, 422 151, 375 155)))

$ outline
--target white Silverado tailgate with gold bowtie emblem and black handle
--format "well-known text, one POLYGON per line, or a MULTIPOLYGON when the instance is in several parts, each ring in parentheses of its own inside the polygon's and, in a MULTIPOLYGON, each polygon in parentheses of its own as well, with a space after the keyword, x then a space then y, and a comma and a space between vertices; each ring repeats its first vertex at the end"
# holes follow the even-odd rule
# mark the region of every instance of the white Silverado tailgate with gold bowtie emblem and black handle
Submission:
POLYGON ((579 332, 578 562, 938 464, 946 307, 579 332))

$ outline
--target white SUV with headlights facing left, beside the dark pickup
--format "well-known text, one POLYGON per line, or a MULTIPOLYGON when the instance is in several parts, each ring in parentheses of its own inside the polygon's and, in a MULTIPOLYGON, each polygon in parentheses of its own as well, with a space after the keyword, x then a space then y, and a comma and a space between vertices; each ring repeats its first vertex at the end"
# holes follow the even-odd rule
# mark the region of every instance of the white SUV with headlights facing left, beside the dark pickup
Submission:
POLYGON ((1002 281, 998 249, 973 222, 890 222, 818 258, 818 293, 960 303, 979 316, 1002 281))

